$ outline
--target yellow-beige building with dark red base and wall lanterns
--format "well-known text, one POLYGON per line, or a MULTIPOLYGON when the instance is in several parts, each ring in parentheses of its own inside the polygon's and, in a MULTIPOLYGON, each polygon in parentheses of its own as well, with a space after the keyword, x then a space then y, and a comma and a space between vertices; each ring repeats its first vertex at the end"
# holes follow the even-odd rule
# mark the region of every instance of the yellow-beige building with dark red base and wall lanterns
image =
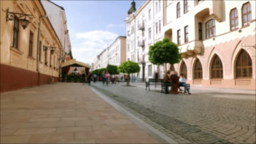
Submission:
POLYGON ((0 91, 46 84, 52 78, 58 81, 63 47, 51 22, 45 18, 42 3, 39 0, 1 0, 0 11, 0 91), (19 17, 23 14, 32 15, 26 17, 30 23, 25 28, 22 27, 25 17, 19 17))

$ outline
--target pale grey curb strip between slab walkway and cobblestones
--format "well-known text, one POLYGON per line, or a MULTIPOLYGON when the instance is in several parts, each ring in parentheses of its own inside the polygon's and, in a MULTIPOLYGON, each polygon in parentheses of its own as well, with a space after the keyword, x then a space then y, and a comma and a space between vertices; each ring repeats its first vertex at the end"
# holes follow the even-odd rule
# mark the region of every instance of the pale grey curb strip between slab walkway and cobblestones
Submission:
POLYGON ((138 117, 133 115, 131 112, 128 112, 126 109, 124 109, 123 107, 116 104, 112 99, 110 99, 104 93, 101 93, 100 91, 96 90, 95 88, 92 88, 92 87, 90 87, 90 88, 98 96, 100 96, 102 99, 104 99, 109 104, 111 104, 113 107, 115 107, 123 115, 127 116, 131 121, 138 124, 144 131, 149 133, 150 136, 152 136, 154 139, 156 139, 160 143, 178 144, 178 142, 174 141, 170 137, 166 136, 164 133, 162 133, 162 132, 158 131, 157 129, 153 128, 151 125, 145 123, 143 120, 139 119, 138 117))

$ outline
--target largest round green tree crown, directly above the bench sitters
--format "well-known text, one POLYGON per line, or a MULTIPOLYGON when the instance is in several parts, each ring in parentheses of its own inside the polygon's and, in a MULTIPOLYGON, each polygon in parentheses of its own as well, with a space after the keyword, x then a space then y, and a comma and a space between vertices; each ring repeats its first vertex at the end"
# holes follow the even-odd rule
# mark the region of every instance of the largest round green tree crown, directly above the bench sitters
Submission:
POLYGON ((179 48, 176 43, 170 42, 168 38, 164 38, 158 41, 154 45, 149 46, 149 61, 152 64, 176 64, 181 60, 181 53, 179 53, 179 48))

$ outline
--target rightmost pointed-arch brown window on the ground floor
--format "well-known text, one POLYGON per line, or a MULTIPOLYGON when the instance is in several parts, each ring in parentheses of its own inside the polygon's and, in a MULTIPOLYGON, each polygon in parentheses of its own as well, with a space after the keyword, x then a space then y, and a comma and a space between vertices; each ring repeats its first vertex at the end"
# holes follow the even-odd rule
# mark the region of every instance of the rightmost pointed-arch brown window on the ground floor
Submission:
POLYGON ((253 70, 251 57, 245 50, 242 50, 237 57, 236 77, 251 77, 252 72, 253 70))

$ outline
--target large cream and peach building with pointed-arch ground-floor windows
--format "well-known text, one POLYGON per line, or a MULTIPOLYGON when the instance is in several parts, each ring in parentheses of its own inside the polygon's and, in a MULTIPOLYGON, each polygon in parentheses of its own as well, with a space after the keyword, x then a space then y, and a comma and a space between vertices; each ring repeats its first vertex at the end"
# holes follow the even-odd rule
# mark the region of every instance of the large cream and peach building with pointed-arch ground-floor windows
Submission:
POLYGON ((170 69, 191 85, 255 90, 255 0, 167 0, 163 5, 164 36, 182 54, 170 69))

